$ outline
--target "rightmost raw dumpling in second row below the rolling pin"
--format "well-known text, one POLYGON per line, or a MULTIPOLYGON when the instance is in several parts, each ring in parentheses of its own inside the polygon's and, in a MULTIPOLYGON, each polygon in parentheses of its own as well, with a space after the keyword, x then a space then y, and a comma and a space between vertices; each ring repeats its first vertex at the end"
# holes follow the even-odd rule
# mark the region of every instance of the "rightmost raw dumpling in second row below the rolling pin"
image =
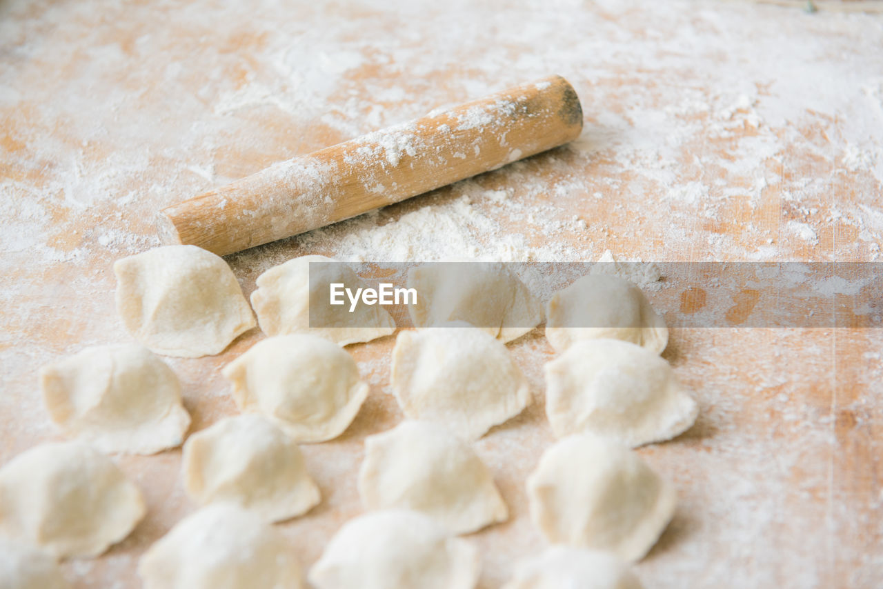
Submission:
POLYGON ((665 359, 618 340, 577 342, 548 362, 546 414, 555 436, 598 434, 631 447, 670 440, 698 405, 665 359))

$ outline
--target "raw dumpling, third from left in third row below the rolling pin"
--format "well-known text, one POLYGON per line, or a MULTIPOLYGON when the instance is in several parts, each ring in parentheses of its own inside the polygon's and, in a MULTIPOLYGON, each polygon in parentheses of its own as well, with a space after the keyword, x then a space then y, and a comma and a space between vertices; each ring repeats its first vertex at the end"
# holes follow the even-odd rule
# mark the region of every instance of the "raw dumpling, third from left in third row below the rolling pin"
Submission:
POLYGON ((494 478, 472 447, 426 421, 404 421, 366 439, 358 493, 369 510, 419 511, 454 533, 509 517, 494 478))

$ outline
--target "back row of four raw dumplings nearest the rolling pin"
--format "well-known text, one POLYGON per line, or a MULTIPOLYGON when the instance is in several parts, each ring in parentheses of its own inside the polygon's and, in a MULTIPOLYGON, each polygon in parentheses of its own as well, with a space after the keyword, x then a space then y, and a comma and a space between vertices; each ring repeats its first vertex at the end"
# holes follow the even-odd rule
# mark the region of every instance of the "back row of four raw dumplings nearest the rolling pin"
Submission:
MULTIPOLYGON (((366 283, 346 264, 321 255, 287 261, 261 274, 251 307, 223 259, 194 245, 169 245, 114 264, 117 309, 125 327, 152 351, 197 358, 223 351, 255 326, 268 336, 311 333, 336 344, 389 336, 395 321, 382 306, 331 313, 330 283, 351 290, 366 283), (311 263, 319 262, 312 268, 311 263), (311 280, 312 278, 312 280, 311 280)), ((508 265, 499 262, 427 264, 411 268, 408 286, 417 291, 408 306, 415 327, 465 321, 503 343, 525 335, 544 319, 543 306, 508 265), (467 269, 468 268, 468 269, 467 269)), ((665 322, 635 285, 592 273, 555 294, 547 305, 546 336, 556 351, 582 339, 613 338, 659 353, 668 341, 665 322)))

